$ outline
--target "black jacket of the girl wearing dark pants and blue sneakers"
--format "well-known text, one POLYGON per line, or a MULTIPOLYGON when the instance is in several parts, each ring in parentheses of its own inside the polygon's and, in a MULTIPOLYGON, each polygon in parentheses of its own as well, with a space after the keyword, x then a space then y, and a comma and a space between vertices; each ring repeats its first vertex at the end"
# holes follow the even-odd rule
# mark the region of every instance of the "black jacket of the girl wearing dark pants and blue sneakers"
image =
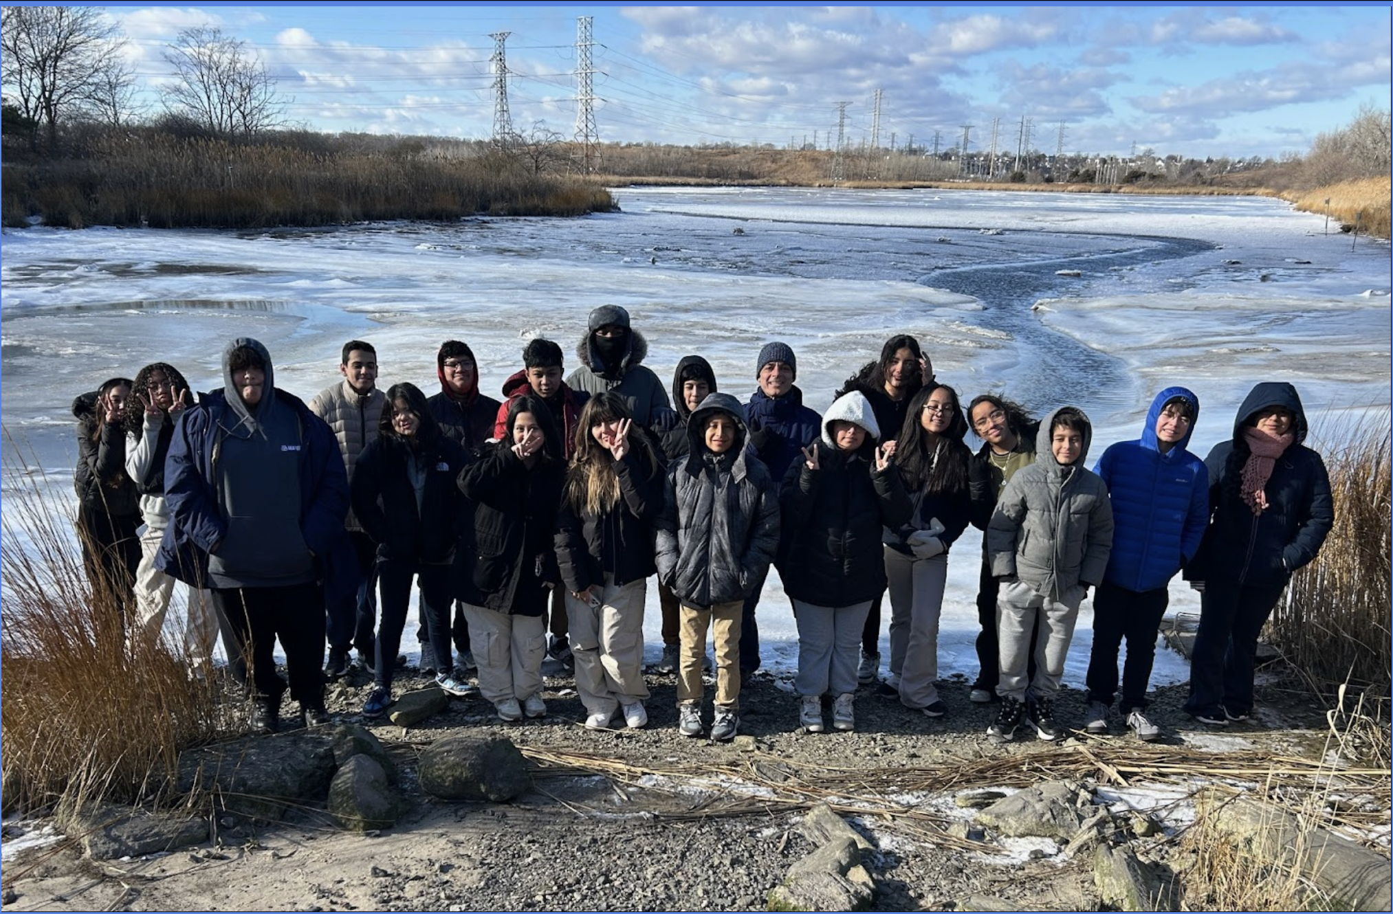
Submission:
POLYGON ((368 442, 350 492, 352 511, 379 556, 426 564, 454 560, 464 516, 456 479, 468 463, 464 447, 444 436, 419 457, 394 435, 368 442), (407 474, 411 460, 419 460, 426 474, 421 510, 407 474))

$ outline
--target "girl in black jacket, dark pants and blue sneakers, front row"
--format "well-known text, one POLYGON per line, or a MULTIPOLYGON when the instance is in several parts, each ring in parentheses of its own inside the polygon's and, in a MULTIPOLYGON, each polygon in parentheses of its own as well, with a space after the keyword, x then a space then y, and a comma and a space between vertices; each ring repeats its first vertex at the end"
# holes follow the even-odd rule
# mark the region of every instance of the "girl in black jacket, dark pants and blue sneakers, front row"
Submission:
POLYGON ((468 463, 464 447, 440 433, 415 385, 393 385, 378 437, 358 456, 352 509, 378 546, 382 621, 373 651, 378 687, 364 705, 376 718, 391 704, 391 672, 407 624, 411 581, 421 587, 436 684, 451 695, 471 690, 450 674, 450 566, 460 541, 462 497, 456 479, 468 463))

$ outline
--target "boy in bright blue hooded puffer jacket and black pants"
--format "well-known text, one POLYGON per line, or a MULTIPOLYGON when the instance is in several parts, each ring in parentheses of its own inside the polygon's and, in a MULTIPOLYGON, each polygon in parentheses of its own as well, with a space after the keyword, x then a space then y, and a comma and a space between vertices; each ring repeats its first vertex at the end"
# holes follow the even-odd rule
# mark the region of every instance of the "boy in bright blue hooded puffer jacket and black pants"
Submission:
POLYGON ((1142 713, 1156 656, 1156 631, 1166 612, 1166 585, 1195 557, 1209 522, 1209 474, 1185 450, 1199 398, 1166 387, 1146 412, 1141 437, 1119 442, 1094 468, 1113 503, 1113 552, 1094 595, 1094 651, 1088 662, 1089 733, 1107 733, 1117 691, 1117 649, 1127 638, 1120 711, 1141 740, 1160 730, 1142 713))

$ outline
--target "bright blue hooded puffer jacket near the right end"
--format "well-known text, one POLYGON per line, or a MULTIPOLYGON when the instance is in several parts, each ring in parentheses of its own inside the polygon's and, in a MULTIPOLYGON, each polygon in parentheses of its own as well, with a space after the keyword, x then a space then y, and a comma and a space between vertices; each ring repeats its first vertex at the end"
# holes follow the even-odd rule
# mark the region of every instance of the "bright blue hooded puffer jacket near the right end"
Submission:
POLYGON ((1141 437, 1113 444, 1094 467, 1113 503, 1113 552, 1103 574, 1109 584, 1138 594, 1155 591, 1195 557, 1209 524, 1209 472, 1185 450, 1198 418, 1199 397, 1166 387, 1146 411, 1141 437), (1156 446, 1156 419, 1174 397, 1190 401, 1194 421, 1163 454, 1156 446))

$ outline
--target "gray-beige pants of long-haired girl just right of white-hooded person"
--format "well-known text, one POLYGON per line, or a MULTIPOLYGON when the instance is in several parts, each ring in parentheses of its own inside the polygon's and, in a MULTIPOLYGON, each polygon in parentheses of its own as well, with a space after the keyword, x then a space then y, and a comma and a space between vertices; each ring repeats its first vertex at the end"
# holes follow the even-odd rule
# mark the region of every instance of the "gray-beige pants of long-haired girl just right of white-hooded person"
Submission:
POLYGON ((949 577, 947 553, 915 559, 886 546, 890 581, 890 672, 900 677, 900 701, 928 708, 939 699, 939 614, 949 577))

